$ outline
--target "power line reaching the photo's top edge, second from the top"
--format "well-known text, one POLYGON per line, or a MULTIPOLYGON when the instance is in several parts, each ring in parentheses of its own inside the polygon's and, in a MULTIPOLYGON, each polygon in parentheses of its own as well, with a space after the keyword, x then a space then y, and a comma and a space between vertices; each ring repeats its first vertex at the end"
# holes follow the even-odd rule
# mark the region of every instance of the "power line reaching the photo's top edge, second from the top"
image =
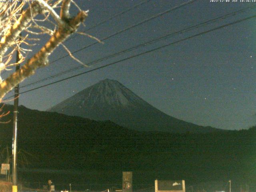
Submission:
MULTIPOLYGON (((150 21, 150 20, 153 20, 153 19, 155 19, 155 18, 157 18, 157 17, 160 17, 160 16, 162 16, 162 15, 164 15, 164 14, 167 14, 167 13, 173 11, 173 10, 176 10, 176 9, 178 9, 178 8, 181 8, 181 7, 183 7, 183 6, 186 6, 186 5, 191 4, 191 3, 193 3, 193 2, 196 2, 196 1, 198 1, 198 0, 189 0, 189 1, 187 1, 187 2, 184 2, 184 3, 180 4, 180 5, 174 6, 173 8, 170 8, 170 9, 168 9, 168 10, 165 10, 164 12, 161 12, 161 13, 158 13, 158 14, 156 14, 156 15, 154 15, 154 16, 151 16, 151 17, 149 17, 149 18, 146 18, 145 20, 142 20, 141 22, 138 22, 137 24, 134 24, 134 25, 132 25, 132 26, 129 26, 129 27, 127 27, 127 28, 124 28, 124 29, 122 29, 122 30, 120 30, 120 31, 118 31, 118 32, 115 32, 115 33, 111 34, 110 36, 107 36, 107 37, 101 39, 100 41, 107 40, 107 39, 109 39, 109 38, 111 38, 111 37, 113 37, 113 36, 116 36, 117 34, 120 34, 120 33, 122 33, 122 32, 125 32, 125 31, 127 31, 127 30, 129 30, 129 29, 131 29, 131 28, 134 28, 134 27, 136 27, 136 26, 139 26, 139 25, 141 25, 141 24, 143 24, 143 23, 145 23, 145 22, 148 22, 148 21, 150 21)), ((90 44, 90 45, 88 45, 88 46, 84 46, 83 48, 78 49, 78 50, 72 52, 72 54, 77 53, 77 52, 80 52, 80 51, 82 51, 82 50, 84 50, 84 49, 86 49, 86 48, 88 48, 88 47, 90 47, 90 46, 93 46, 93 45, 95 45, 95 44, 98 44, 98 42, 94 42, 94 43, 92 43, 92 44, 90 44)), ((58 59, 56 59, 56 60, 50 62, 50 64, 52 64, 52 63, 54 63, 54 62, 56 62, 56 61, 58 61, 58 60, 61 60, 61 59, 65 58, 65 57, 67 57, 67 56, 69 56, 69 54, 66 54, 66 55, 64 55, 64 56, 62 56, 62 57, 60 57, 60 58, 58 58, 58 59)))

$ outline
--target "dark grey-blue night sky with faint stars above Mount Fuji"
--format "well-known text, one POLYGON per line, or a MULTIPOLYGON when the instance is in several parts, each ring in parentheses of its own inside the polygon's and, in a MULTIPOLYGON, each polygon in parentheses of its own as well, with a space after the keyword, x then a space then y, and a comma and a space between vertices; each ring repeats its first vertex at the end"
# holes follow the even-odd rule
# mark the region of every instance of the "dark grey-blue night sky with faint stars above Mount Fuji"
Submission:
MULTIPOLYGON (((87 31, 87 33, 102 39, 186 1, 150 0, 142 6, 87 31)), ((238 1, 214 3, 210 0, 198 0, 113 36, 104 41, 104 44, 96 44, 84 49, 74 56, 87 63, 188 26, 242 8, 256 6, 256 2, 242 3, 240 0, 238 1)), ((76 2, 83 10, 90 10, 85 22, 86 27, 80 29, 82 31, 114 14, 131 8, 142 0, 77 0, 76 2)), ((72 8, 72 12, 75 14, 77 10, 72 8)), ((254 14, 256 14, 256 8, 104 60, 90 68, 82 68, 40 84, 21 88, 20 92, 254 14)), ((46 36, 42 36, 40 45, 45 41, 46 36)), ((95 40, 88 37, 77 36, 67 41, 65 45, 71 51, 75 51, 94 42, 95 40)), ((39 47, 35 46, 33 53, 36 53, 39 47)), ((216 128, 230 130, 249 128, 256 124, 255 50, 256 18, 252 18, 88 74, 21 94, 20 104, 32 109, 46 110, 88 86, 110 78, 118 80, 138 96, 170 116, 216 128)), ((66 55, 66 51, 59 47, 50 56, 50 61, 64 55, 66 55)), ((36 75, 22 82, 21 86, 77 66, 80 64, 70 57, 66 57, 46 68, 39 69, 36 75)), ((4 75, 8 73, 6 72, 4 75)), ((8 94, 7 97, 11 94, 13 93, 8 94)))

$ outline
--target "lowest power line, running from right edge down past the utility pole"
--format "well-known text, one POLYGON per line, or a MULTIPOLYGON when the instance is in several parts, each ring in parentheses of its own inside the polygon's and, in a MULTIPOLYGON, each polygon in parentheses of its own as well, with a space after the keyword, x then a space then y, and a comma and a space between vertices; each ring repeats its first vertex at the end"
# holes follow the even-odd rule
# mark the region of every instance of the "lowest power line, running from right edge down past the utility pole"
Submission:
MULTIPOLYGON (((68 77, 68 78, 64 78, 64 79, 61 79, 61 80, 58 80, 58 81, 55 81, 55 82, 52 82, 52 83, 48 83, 48 84, 45 84, 45 85, 43 85, 43 86, 39 86, 39 87, 30 89, 30 90, 21 92, 20 94, 24 94, 24 93, 26 93, 26 92, 30 92, 30 91, 33 91, 33 90, 36 90, 36 89, 39 89, 39 88, 43 88, 43 87, 46 87, 46 86, 49 86, 49 85, 52 85, 52 84, 56 84, 56 83, 58 83, 58 82, 62 82, 62 81, 64 81, 64 80, 68 80, 68 79, 70 79, 70 78, 74 78, 74 77, 76 77, 76 76, 80 76, 80 75, 82 75, 82 74, 86 74, 86 73, 89 73, 89 72, 92 72, 92 71, 95 71, 95 70, 98 70, 98 69, 101 69, 101 68, 105 68, 105 67, 114 65, 114 64, 116 64, 116 63, 123 62, 123 61, 125 61, 125 60, 131 59, 131 58, 135 58, 135 57, 138 57, 138 56, 141 56, 141 55, 143 55, 143 54, 147 54, 147 53, 150 53, 150 52, 153 52, 153 51, 156 51, 156 50, 160 50, 160 49, 165 48, 165 47, 167 47, 167 46, 170 46, 170 45, 173 45, 173 44, 176 44, 176 43, 179 43, 179 42, 182 42, 182 41, 185 41, 185 40, 194 38, 194 37, 196 37, 196 36, 200 36, 200 35, 202 35, 202 34, 206 34, 206 33, 208 33, 208 32, 212 32, 212 31, 215 31, 215 30, 224 28, 224 27, 227 27, 227 26, 230 26, 230 25, 233 25, 233 24, 237 24, 237 23, 239 23, 239 22, 243 22, 243 21, 245 21, 245 20, 249 20, 249 19, 252 19, 252 18, 256 18, 256 15, 253 15, 253 16, 250 16, 250 17, 241 19, 241 20, 237 20, 237 21, 235 21, 235 22, 231 22, 231 23, 229 23, 229 24, 225 24, 225 25, 222 25, 222 26, 219 26, 219 27, 216 27, 216 28, 213 28, 213 29, 204 31, 204 32, 200 32, 200 33, 198 33, 198 34, 195 34, 195 35, 189 36, 189 37, 187 37, 187 38, 184 38, 184 39, 182 39, 182 40, 178 40, 178 41, 175 41, 175 42, 172 42, 172 43, 169 43, 169 44, 160 46, 160 47, 158 47, 158 48, 154 48, 154 49, 148 50, 148 51, 146 51, 146 52, 142 52, 142 53, 140 53, 140 54, 136 54, 136 55, 133 55, 133 56, 130 56, 130 57, 127 57, 127 58, 118 60, 118 61, 116 61, 116 62, 112 62, 112 63, 110 63, 110 64, 106 64, 106 65, 104 65, 104 66, 100 66, 100 67, 98 67, 98 68, 94 68, 94 69, 92 69, 92 70, 89 70, 89 71, 86 71, 86 72, 82 72, 82 73, 79 73, 79 74, 70 76, 70 77, 68 77)), ((10 97, 8 97, 8 98, 6 98, 6 99, 9 99, 9 98, 11 98, 11 97, 13 97, 13 96, 10 96, 10 97)))

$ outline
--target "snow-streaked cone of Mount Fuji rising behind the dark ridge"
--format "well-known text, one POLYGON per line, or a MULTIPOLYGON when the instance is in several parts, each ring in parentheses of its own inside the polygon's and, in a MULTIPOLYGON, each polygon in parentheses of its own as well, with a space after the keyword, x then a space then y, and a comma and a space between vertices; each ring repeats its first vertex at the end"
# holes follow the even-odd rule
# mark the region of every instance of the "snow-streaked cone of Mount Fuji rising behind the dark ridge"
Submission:
POLYGON ((139 131, 214 132, 204 127, 161 112, 116 80, 102 80, 48 109, 69 116, 93 120, 110 120, 120 126, 139 131))

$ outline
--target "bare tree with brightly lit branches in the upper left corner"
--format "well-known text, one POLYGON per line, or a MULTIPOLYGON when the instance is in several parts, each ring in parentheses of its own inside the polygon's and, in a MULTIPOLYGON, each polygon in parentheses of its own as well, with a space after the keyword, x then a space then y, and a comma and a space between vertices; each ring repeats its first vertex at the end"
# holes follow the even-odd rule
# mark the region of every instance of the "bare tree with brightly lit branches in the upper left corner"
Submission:
MULTIPOLYGON (((12 73, 3 81, 0 79, 0 99, 14 86, 33 75, 37 68, 47 66, 50 54, 57 46, 63 45, 62 42, 70 34, 77 31, 87 17, 87 13, 88 11, 80 10, 73 0, 34 0, 33 3, 29 1, 0 2, 0 72, 17 64, 12 63, 16 50, 20 53, 19 63, 24 62, 20 70, 12 73), (71 4, 79 10, 74 17, 71 17, 69 12, 71 4), (60 14, 57 14, 58 9, 60 9, 60 14), (52 23, 52 28, 43 26, 40 24, 42 22, 52 23), (23 31, 25 35, 20 38, 20 33, 23 31), (20 44, 32 46, 30 42, 38 38, 31 38, 31 36, 40 34, 49 34, 48 42, 34 56, 27 59, 26 55, 32 50, 22 48, 20 44)), ((69 52, 66 46, 64 48, 69 52)), ((70 56, 74 58, 71 53, 70 56)))

